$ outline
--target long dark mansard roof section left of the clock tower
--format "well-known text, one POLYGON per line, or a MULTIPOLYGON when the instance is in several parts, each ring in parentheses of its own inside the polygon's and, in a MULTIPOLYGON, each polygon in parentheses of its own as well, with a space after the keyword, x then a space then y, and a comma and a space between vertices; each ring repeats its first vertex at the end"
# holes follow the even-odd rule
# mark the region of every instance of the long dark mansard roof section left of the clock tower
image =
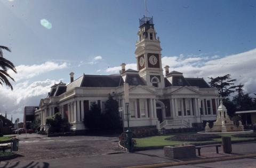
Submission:
POLYGON ((84 75, 80 87, 117 87, 123 84, 120 75, 84 75))

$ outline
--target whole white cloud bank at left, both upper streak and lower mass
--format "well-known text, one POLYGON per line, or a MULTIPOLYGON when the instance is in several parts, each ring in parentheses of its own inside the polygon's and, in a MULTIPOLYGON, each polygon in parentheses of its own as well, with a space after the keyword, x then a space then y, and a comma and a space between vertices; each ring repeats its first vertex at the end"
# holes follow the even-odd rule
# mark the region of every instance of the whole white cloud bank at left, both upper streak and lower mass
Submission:
POLYGON ((19 65, 18 74, 9 71, 15 79, 13 91, 5 85, 0 86, 0 113, 7 111, 7 117, 13 119, 23 118, 23 108, 25 106, 38 106, 39 100, 45 98, 50 92, 51 86, 56 82, 50 79, 45 81, 30 82, 33 77, 53 70, 66 68, 67 63, 45 62, 41 65, 19 65))

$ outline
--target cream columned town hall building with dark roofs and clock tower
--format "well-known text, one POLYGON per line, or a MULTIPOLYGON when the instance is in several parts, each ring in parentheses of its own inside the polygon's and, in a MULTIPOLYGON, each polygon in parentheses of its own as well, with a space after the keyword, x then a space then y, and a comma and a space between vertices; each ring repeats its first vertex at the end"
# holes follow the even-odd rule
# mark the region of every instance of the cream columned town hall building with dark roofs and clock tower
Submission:
POLYGON ((49 116, 60 112, 71 125, 71 130, 85 130, 84 116, 96 103, 102 113, 108 95, 114 96, 123 107, 123 124, 127 127, 124 86, 128 86, 131 127, 175 129, 192 127, 203 121, 216 119, 219 105, 218 90, 211 88, 203 78, 187 78, 181 72, 163 74, 160 39, 156 36, 153 17, 139 20, 138 41, 135 47, 137 70, 126 69, 125 63, 117 75, 82 75, 70 83, 60 82, 51 87, 49 95, 41 99, 36 119, 41 128, 49 116))

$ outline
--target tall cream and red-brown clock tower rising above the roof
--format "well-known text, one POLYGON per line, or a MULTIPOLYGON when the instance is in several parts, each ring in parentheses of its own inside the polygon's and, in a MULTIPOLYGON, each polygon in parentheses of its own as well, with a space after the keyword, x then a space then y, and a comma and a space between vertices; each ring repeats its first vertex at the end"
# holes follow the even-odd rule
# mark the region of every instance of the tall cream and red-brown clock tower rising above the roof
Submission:
POLYGON ((164 75, 161 61, 161 46, 159 37, 156 38, 153 17, 139 19, 140 27, 137 33, 135 55, 139 75, 147 85, 164 87, 164 75))

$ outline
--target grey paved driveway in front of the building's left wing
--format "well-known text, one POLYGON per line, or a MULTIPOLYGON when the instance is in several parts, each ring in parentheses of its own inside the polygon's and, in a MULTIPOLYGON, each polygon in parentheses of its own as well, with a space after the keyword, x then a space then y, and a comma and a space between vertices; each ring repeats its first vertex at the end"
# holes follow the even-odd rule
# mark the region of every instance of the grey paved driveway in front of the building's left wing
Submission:
POLYGON ((21 157, 12 161, 81 157, 121 152, 117 137, 74 136, 46 137, 45 135, 19 135, 21 157))

